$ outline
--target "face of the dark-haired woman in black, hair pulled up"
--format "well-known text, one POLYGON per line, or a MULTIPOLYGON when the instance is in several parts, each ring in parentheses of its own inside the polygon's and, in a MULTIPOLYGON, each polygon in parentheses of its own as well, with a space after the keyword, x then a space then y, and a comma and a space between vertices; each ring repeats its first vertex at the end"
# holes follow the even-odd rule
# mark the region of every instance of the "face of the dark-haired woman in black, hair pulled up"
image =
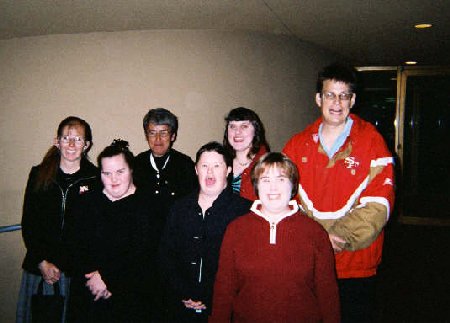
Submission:
POLYGON ((101 178, 106 193, 113 201, 126 196, 133 184, 130 167, 123 154, 102 158, 101 178))

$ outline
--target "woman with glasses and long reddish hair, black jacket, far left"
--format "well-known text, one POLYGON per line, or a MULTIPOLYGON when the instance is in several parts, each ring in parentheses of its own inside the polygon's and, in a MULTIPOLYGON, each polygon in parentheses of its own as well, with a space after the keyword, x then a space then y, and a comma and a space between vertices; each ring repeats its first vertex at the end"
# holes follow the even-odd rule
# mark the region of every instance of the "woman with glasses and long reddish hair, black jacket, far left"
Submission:
MULTIPOLYGON (((59 124, 54 145, 42 162, 31 169, 22 215, 27 253, 22 264, 17 322, 31 322, 31 296, 41 280, 45 281, 44 294, 53 293, 51 285, 58 282, 61 294, 68 295, 73 208, 98 181, 98 170, 87 157, 91 146, 89 124, 68 117, 59 124)), ((61 322, 64 320, 65 309, 61 322)))

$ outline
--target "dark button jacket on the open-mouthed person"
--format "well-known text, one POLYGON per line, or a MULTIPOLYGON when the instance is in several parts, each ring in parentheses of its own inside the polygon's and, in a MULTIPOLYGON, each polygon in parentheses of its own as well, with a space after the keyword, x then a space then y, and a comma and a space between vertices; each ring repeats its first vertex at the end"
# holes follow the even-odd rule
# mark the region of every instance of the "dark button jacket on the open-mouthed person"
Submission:
POLYGON ((211 308, 220 246, 228 224, 249 211, 251 202, 225 189, 203 218, 198 193, 175 202, 162 237, 160 259, 171 303, 201 300, 211 308))

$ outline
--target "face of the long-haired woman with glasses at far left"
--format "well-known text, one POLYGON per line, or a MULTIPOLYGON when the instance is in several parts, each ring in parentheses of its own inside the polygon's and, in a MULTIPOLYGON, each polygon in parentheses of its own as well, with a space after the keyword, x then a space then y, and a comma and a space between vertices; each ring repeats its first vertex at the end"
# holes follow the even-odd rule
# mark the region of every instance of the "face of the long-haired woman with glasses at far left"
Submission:
POLYGON ((81 126, 65 126, 61 136, 55 139, 62 162, 80 162, 83 151, 89 145, 90 142, 84 140, 84 128, 81 126))

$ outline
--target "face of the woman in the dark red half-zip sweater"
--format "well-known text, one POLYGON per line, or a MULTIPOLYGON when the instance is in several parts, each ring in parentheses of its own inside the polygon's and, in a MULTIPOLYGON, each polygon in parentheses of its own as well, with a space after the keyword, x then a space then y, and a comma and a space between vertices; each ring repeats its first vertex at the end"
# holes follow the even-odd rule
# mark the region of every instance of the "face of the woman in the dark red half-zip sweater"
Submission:
POLYGON ((258 178, 258 195, 266 215, 280 215, 289 210, 292 183, 278 167, 266 168, 258 178))

